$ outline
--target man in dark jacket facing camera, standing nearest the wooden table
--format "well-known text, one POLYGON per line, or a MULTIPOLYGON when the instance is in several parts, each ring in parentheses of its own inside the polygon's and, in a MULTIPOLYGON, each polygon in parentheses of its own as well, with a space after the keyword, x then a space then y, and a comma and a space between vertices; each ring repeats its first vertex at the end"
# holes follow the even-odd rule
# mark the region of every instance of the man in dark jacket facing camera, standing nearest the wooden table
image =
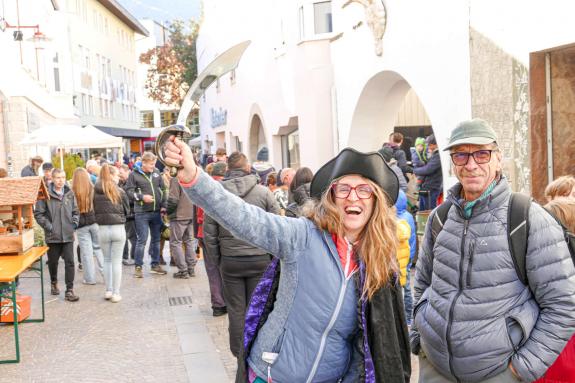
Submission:
POLYGON ((36 202, 34 218, 44 229, 48 245, 48 270, 51 294, 59 295, 58 260, 64 260, 66 292, 64 299, 76 302, 74 294, 74 230, 80 221, 80 212, 74 192, 66 185, 66 173, 58 168, 52 170, 52 183, 48 186, 50 199, 36 202))

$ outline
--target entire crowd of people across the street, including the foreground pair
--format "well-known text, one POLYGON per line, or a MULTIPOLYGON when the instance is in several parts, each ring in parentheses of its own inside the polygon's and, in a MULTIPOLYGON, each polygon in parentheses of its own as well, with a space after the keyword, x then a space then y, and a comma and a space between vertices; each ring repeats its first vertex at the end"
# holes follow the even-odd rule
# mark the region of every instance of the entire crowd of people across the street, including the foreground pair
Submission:
POLYGON ((177 177, 145 152, 132 166, 88 161, 71 187, 34 157, 23 175, 46 166, 51 198, 35 218, 51 292, 61 257, 65 299, 79 299, 76 240, 83 283, 101 275, 104 298, 119 302, 122 264, 143 278, 150 236, 150 273, 167 273, 164 240, 177 279, 196 275, 201 249, 212 314, 229 316, 237 382, 409 382, 410 352, 420 382, 570 381, 575 177, 551 182, 544 206, 519 209, 497 135, 474 119, 442 147, 459 181, 444 193, 434 135, 409 156, 403 139, 344 149, 314 174, 276 170, 266 147, 254 163, 218 149, 202 166, 172 138, 165 158, 177 177), (419 244, 416 210, 432 210, 419 244))

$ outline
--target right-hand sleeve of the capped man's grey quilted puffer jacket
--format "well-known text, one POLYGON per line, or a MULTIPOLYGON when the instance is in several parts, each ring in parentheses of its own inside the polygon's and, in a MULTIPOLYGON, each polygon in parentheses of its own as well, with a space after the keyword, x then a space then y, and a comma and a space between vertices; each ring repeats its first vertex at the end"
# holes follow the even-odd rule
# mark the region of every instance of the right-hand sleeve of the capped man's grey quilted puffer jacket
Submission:
POLYGON ((511 363, 524 381, 541 377, 575 330, 575 266, 563 230, 543 208, 531 204, 526 270, 539 317, 511 363))

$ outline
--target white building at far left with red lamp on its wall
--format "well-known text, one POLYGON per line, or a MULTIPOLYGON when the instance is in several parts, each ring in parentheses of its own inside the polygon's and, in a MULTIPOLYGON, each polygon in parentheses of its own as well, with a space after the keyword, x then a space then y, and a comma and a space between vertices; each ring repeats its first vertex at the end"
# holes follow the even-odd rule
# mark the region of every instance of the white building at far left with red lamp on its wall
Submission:
POLYGON ((65 75, 66 16, 56 1, 20 3, 6 2, 0 21, 0 167, 9 176, 19 176, 32 156, 49 161, 49 148, 20 145, 28 133, 78 122, 65 75))

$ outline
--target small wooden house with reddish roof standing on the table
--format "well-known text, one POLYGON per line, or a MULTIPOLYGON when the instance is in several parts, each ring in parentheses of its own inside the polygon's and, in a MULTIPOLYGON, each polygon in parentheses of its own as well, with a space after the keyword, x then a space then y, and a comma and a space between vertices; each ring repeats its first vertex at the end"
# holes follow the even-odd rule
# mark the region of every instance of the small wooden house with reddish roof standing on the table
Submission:
POLYGON ((0 255, 34 246, 34 204, 49 198, 41 177, 0 178, 0 255))

